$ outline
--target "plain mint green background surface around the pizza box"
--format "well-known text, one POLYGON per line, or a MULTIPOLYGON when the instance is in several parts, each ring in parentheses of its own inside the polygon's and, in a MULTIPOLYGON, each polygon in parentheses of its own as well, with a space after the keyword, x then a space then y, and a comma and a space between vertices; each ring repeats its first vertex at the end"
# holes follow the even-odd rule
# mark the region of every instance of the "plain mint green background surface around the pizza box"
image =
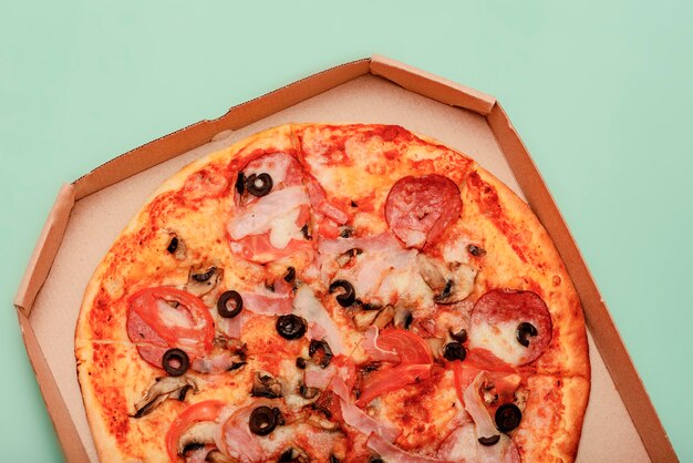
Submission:
POLYGON ((62 460, 10 305, 61 183, 376 52, 503 102, 693 461, 691 2, 249 3, 0 7, 0 460, 62 460))

